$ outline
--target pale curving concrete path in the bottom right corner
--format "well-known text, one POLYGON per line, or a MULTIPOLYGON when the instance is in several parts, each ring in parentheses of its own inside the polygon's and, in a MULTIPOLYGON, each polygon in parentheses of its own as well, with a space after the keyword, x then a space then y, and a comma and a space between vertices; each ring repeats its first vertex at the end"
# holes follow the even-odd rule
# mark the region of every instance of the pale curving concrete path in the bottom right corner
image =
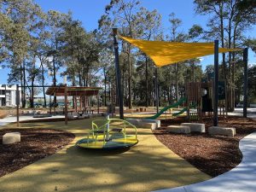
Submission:
POLYGON ((241 163, 218 177, 183 187, 158 192, 255 192, 256 191, 256 132, 241 139, 241 163))

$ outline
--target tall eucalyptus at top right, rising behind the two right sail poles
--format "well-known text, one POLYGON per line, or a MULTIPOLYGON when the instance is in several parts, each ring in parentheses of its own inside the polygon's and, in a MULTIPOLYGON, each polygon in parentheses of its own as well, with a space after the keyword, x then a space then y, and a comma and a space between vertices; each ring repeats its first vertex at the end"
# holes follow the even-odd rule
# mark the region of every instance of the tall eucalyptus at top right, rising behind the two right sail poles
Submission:
MULTIPOLYGON (((252 0, 221 0, 207 1, 195 0, 195 11, 201 15, 210 15, 208 21, 207 38, 221 39, 221 46, 235 48, 242 44, 245 39, 243 32, 246 32, 255 25, 256 8, 252 0)), ((234 84, 235 82, 235 54, 229 54, 229 64, 226 66, 225 54, 223 54, 223 79, 230 85, 228 92, 228 109, 234 109, 234 84), (233 64, 232 64, 233 63, 233 64)))

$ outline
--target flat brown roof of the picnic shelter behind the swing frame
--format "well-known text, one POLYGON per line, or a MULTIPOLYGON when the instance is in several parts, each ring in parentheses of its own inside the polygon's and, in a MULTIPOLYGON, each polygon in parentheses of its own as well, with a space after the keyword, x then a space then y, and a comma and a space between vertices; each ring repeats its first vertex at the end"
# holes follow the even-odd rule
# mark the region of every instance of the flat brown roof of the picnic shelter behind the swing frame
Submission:
MULTIPOLYGON (((76 87, 67 86, 67 96, 96 96, 101 87, 76 87)), ((46 90, 49 96, 65 96, 65 86, 52 86, 46 90)))

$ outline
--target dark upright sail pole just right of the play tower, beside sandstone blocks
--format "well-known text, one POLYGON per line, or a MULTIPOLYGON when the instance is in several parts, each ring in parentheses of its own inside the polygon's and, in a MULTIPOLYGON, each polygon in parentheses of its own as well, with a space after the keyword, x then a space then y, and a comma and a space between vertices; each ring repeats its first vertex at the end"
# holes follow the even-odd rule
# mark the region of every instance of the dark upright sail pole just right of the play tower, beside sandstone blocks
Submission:
POLYGON ((213 125, 218 126, 218 40, 214 41, 214 105, 213 125))

